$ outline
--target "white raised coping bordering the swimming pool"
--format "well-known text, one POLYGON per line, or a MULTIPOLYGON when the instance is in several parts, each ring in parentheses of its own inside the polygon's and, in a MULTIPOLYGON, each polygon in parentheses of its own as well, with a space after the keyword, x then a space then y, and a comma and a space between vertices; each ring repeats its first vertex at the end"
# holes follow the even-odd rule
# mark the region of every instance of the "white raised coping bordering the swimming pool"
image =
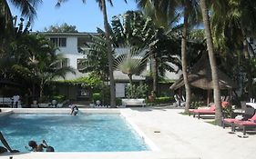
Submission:
MULTIPOLYGON (((1 115, 6 115, 6 114, 12 114, 12 113, 16 113, 16 114, 70 114, 70 108, 1 108, 2 112, 0 113, 1 115)), ((18 153, 19 158, 21 157, 21 159, 26 159, 26 157, 30 158, 32 156, 30 155, 36 155, 36 158, 38 157, 42 157, 44 159, 48 158, 48 157, 53 157, 55 155, 57 156, 61 156, 63 154, 65 154, 65 159, 68 158, 73 158, 74 155, 79 154, 79 155, 84 155, 84 154, 102 154, 104 156, 106 156, 107 154, 109 156, 112 155, 120 155, 120 154, 129 154, 129 155, 147 155, 148 153, 152 153, 152 152, 158 152, 159 151, 159 147, 154 144, 146 134, 143 133, 142 130, 139 129, 138 125, 135 124, 132 119, 130 118, 130 115, 126 113, 126 111, 128 110, 128 112, 132 111, 129 108, 79 108, 79 112, 81 114, 120 114, 125 120, 126 122, 128 122, 128 124, 130 124, 132 126, 132 128, 138 133, 138 135, 144 140, 144 142, 148 145, 149 150, 146 151, 132 151, 132 152, 55 152, 55 153, 18 153), (69 156, 70 155, 70 156, 69 156)), ((17 154, 10 154, 10 153, 6 153, 6 154, 0 154, 0 156, 10 156, 10 155, 17 155, 17 154)), ((55 156, 56 157, 56 156, 55 156)), ((92 158, 94 158, 93 156, 91 156, 92 158)), ((62 157, 63 158, 63 157, 62 157)), ((112 158, 112 157, 111 157, 112 158)))

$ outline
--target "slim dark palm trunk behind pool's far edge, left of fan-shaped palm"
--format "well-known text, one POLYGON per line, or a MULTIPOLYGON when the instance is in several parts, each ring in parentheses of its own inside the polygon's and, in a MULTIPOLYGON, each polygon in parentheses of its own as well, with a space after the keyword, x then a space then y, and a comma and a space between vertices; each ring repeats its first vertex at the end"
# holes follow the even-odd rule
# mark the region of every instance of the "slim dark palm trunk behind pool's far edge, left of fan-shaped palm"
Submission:
POLYGON ((112 56, 110 39, 109 39, 107 7, 106 7, 105 0, 101 0, 101 2, 102 2, 103 17, 104 17, 106 41, 107 41, 107 47, 108 47, 107 49, 108 49, 108 69, 109 69, 109 82, 110 82, 110 106, 116 107, 115 81, 114 81, 114 75, 113 75, 113 56, 112 56))

